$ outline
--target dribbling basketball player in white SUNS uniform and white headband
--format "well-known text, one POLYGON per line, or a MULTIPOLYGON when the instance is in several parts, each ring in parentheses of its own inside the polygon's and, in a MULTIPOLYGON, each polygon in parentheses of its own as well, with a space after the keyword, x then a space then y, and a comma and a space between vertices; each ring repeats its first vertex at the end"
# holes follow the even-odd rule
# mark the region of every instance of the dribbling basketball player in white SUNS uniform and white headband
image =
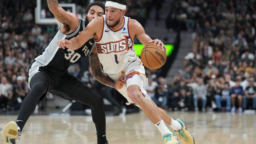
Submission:
POLYGON ((94 36, 96 49, 90 55, 90 64, 96 78, 101 83, 115 88, 115 81, 124 77, 124 86, 118 90, 127 104, 136 104, 160 130, 164 144, 178 144, 175 135, 167 128, 172 127, 184 144, 194 144, 194 138, 186 129, 183 119, 172 119, 165 111, 158 108, 143 89, 147 85, 144 66, 136 57, 133 48, 134 36, 143 45, 154 42, 165 48, 160 40, 152 40, 139 22, 125 17, 126 0, 108 0, 105 4, 105 15, 95 18, 78 36, 70 40, 58 41, 61 48, 75 50, 94 36), (104 74, 101 70, 103 66, 104 74), (166 126, 167 125, 167 126, 166 126))

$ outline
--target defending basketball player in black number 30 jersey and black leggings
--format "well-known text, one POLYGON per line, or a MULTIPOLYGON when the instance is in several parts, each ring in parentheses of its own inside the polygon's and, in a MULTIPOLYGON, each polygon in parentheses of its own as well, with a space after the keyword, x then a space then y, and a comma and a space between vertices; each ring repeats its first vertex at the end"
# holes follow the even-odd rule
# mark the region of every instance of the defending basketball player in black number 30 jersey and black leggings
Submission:
POLYGON ((58 0, 47 0, 47 3, 49 10, 63 25, 49 45, 34 57, 29 67, 28 83, 31 91, 21 104, 16 122, 10 122, 4 127, 2 131, 4 144, 19 142, 25 123, 34 112, 37 102, 44 99, 47 91, 61 98, 88 105, 92 110, 92 118, 96 126, 97 143, 108 144, 102 98, 92 92, 82 81, 71 76, 67 70, 81 58, 91 54, 95 46, 93 37, 74 51, 59 49, 57 45, 58 40, 70 40, 85 29, 93 18, 104 15, 105 5, 94 2, 87 6, 84 21, 61 8, 58 0))

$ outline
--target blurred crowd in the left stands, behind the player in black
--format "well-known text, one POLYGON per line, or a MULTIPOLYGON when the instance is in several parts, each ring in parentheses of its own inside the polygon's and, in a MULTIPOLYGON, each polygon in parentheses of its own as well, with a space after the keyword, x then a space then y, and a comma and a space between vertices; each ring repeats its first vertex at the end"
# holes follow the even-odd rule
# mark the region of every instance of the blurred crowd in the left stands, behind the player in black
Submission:
MULTIPOLYGON (((84 1, 59 0, 59 3, 75 3, 76 11, 84 15, 84 1)), ((128 0, 127 16, 144 22, 149 0, 128 0)), ((46 6, 44 1, 42 6, 46 6)), ((36 1, 0 1, 0 108, 19 108, 29 92, 27 74, 33 56, 52 40, 57 25, 35 24, 36 1)))

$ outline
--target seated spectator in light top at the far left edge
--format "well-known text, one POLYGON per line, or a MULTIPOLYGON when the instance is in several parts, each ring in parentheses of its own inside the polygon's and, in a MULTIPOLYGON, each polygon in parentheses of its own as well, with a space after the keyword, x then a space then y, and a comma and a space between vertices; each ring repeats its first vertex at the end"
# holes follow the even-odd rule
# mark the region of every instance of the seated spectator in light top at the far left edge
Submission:
POLYGON ((8 100, 12 99, 12 85, 8 83, 6 77, 2 77, 0 83, 0 107, 6 108, 8 100))

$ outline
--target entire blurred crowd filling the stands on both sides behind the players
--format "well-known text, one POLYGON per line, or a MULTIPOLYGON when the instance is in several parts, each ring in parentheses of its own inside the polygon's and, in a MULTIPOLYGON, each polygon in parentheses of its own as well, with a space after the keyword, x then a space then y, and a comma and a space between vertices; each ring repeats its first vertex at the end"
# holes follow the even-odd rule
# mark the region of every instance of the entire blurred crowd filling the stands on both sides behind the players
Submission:
MULTIPOLYGON (((74 2, 82 12, 84 4, 74 2)), ((0 2, 0 108, 19 108, 29 92, 28 66, 58 30, 56 25, 34 23, 35 6, 28 0, 0 2)), ((128 0, 127 15, 143 24, 151 6, 151 0, 128 0)), ((256 1, 173 0, 170 9, 167 28, 193 31, 192 50, 171 82, 157 77, 157 70, 146 69, 145 90, 151 99, 170 111, 255 110, 256 1)), ((86 79, 79 65, 71 72, 86 79)), ((92 77, 86 84, 122 111, 123 97, 92 77)))

